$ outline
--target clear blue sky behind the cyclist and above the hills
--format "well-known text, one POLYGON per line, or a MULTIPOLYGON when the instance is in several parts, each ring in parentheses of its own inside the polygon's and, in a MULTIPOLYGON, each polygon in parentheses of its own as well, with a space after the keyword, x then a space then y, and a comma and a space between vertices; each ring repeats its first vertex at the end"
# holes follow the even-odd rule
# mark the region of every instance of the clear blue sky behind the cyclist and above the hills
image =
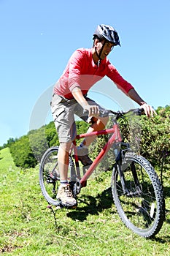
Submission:
POLYGON ((120 35, 109 60, 123 78, 154 108, 169 105, 169 10, 169 0, 0 0, 0 146, 27 134, 37 102, 52 120, 53 83, 74 50, 92 46, 100 23, 120 35))

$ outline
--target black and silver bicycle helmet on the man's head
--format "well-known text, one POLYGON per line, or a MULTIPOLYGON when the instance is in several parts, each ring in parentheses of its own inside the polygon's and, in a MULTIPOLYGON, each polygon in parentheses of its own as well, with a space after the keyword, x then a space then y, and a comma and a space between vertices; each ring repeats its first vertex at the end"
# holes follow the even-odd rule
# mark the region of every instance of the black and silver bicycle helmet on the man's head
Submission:
POLYGON ((120 45, 119 36, 117 31, 109 25, 98 25, 96 31, 93 34, 93 39, 107 39, 107 41, 112 42, 114 45, 120 45))

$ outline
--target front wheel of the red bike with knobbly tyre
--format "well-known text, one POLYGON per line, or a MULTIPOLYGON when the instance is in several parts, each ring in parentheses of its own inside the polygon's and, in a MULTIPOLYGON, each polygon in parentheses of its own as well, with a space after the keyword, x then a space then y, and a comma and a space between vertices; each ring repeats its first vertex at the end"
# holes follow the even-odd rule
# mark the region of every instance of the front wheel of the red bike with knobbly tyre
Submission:
POLYGON ((163 188, 150 162, 126 153, 122 165, 113 169, 111 187, 117 212, 128 228, 145 238, 161 230, 165 215, 163 188))

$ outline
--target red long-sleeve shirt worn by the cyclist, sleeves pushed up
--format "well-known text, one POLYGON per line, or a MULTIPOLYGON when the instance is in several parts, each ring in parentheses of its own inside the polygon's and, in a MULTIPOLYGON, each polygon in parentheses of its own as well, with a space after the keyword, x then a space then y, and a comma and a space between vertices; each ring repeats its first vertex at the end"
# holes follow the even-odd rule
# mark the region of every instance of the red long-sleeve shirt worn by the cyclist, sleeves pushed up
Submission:
POLYGON ((85 95, 105 75, 125 94, 128 94, 128 91, 134 88, 131 83, 123 79, 107 58, 101 60, 101 63, 97 66, 93 62, 92 49, 80 48, 72 54, 63 75, 55 83, 53 92, 67 99, 72 99, 72 90, 80 86, 82 94, 85 95))

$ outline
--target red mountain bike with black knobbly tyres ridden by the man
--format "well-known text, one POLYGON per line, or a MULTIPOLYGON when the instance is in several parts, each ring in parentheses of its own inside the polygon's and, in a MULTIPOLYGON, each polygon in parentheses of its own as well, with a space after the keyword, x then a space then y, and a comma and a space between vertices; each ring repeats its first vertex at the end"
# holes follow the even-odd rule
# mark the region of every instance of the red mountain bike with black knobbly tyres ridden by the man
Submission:
MULTIPOLYGON (((129 143, 123 142, 121 138, 117 120, 128 113, 141 115, 142 109, 128 112, 105 110, 100 116, 112 116, 112 128, 77 135, 69 152, 69 184, 74 197, 77 197, 101 159, 113 148, 115 163, 111 189, 117 213, 126 227, 134 233, 144 238, 152 238, 161 230, 165 218, 163 187, 150 162, 134 153, 129 143), (109 135, 109 140, 88 170, 83 167, 81 177, 77 140, 93 135, 109 135)), ((39 183, 47 202, 53 206, 61 206, 61 202, 56 199, 60 184, 58 146, 47 149, 43 155, 39 167, 39 183)))

